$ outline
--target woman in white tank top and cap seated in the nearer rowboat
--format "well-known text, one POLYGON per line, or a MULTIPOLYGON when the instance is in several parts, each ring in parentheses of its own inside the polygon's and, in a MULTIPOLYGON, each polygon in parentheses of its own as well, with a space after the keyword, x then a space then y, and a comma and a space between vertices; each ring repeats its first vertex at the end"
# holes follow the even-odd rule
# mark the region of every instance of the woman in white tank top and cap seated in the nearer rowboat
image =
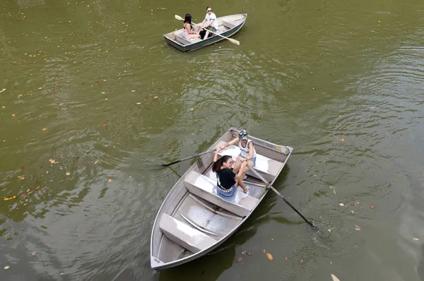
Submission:
POLYGON ((225 145, 220 147, 220 149, 223 150, 230 145, 238 143, 240 155, 237 157, 233 171, 237 174, 237 177, 240 177, 238 182, 242 189, 244 189, 242 186, 242 184, 244 185, 243 179, 245 179, 245 176, 249 171, 247 164, 249 164, 250 167, 254 167, 256 163, 256 150, 254 150, 254 143, 252 140, 249 140, 248 136, 249 134, 246 130, 241 130, 237 138, 234 138, 229 143, 225 143, 225 145))

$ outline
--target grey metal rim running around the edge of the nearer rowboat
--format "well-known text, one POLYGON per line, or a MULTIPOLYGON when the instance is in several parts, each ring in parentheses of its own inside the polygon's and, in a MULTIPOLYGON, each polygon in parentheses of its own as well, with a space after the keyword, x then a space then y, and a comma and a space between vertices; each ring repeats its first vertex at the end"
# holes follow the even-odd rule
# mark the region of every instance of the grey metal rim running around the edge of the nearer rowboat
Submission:
MULTIPOLYGON (((235 128, 235 127, 231 127, 231 128, 229 128, 228 129, 228 131, 225 131, 225 133, 228 133, 228 132, 230 132, 230 131, 238 131, 238 129, 237 128, 235 128)), ((210 150, 212 150, 212 148, 213 148, 213 145, 215 144, 215 143, 218 143, 218 141, 221 139, 221 138, 223 138, 223 136, 225 136, 225 133, 223 133, 223 135, 222 136, 220 136, 220 138, 218 138, 217 140, 216 140, 216 142, 214 142, 207 150, 205 150, 205 151, 210 151, 210 150)), ((261 138, 257 138, 257 137, 254 137, 254 136, 251 136, 251 138, 252 139, 256 139, 256 140, 260 140, 261 142, 264 142, 264 143, 266 143, 266 144, 268 144, 268 145, 272 145, 272 146, 276 146, 276 147, 286 147, 286 148, 288 148, 288 150, 289 150, 289 153, 288 153, 288 155, 286 155, 286 157, 285 157, 285 160, 284 160, 284 162, 283 162, 283 165, 282 165, 282 167, 281 167, 281 169, 279 169, 279 171, 278 171, 278 174, 277 174, 277 176, 276 177, 274 177, 274 179, 272 180, 272 181, 270 181, 269 182, 269 184, 273 184, 275 181, 276 181, 276 179, 278 178, 278 176, 281 174, 281 171, 283 170, 283 168, 285 167, 285 164, 287 163, 287 161, 288 161, 288 158, 290 157, 290 155, 293 153, 293 148, 291 148, 291 147, 289 147, 289 146, 286 146, 286 145, 277 145, 277 144, 275 144, 275 143, 271 143, 271 142, 269 142, 269 141, 267 141, 267 140, 263 140, 263 139, 261 139, 261 138)), ((269 149, 271 149, 271 148, 269 148, 269 149)), ((279 150, 274 150, 274 152, 276 152, 276 153, 282 153, 281 151, 279 151, 279 150)), ((284 154, 284 153, 282 153, 282 154, 284 154)), ((285 155, 285 154, 284 154, 285 155)), ((182 177, 178 180, 178 181, 180 181, 180 180, 184 180, 184 177, 186 177, 186 175, 189 173, 189 172, 191 172, 192 171, 192 168, 194 167, 194 165, 196 165, 196 162, 194 162, 194 164, 193 165, 191 165, 190 167, 189 167, 189 169, 187 169, 187 171, 182 175, 182 177)), ((156 217, 155 217, 155 222, 153 222, 153 227, 152 227, 152 233, 151 233, 151 259, 152 258, 154 258, 155 260, 157 260, 157 261, 160 261, 158 258, 155 258, 155 256, 152 256, 152 252, 153 252, 153 232, 154 232, 154 229, 155 229, 155 226, 156 226, 156 224, 158 223, 158 216, 159 216, 159 214, 161 213, 160 211, 163 209, 163 207, 164 207, 164 205, 165 205, 165 202, 167 201, 167 198, 168 198, 168 196, 170 196, 170 194, 172 193, 172 191, 173 191, 173 189, 175 189, 175 188, 178 188, 177 186, 179 186, 179 184, 178 184, 178 181, 174 184, 174 186, 172 186, 172 189, 167 193, 167 196, 166 196, 166 198, 163 200, 163 203, 162 203, 162 205, 160 205, 160 208, 159 208, 159 210, 158 210, 158 213, 156 214, 156 217)), ((187 190, 187 193, 190 193, 188 190, 187 190)), ((259 198, 259 201, 258 201, 258 203, 254 206, 254 208, 249 212, 249 214, 246 216, 246 217, 243 217, 242 218, 242 220, 239 222, 239 224, 237 225, 237 227, 235 227, 234 229, 232 229, 232 231, 230 231, 230 232, 228 232, 228 234, 227 235, 225 235, 225 236, 223 236, 221 239, 219 239, 219 240, 217 240, 216 241, 216 243, 215 244, 213 244, 212 246, 210 246, 210 247, 208 247, 208 248, 206 248, 206 249, 204 249, 204 250, 202 250, 202 251, 199 251, 199 252, 197 252, 197 253, 193 253, 192 255, 190 255, 190 256, 187 256, 187 257, 185 257, 185 258, 179 258, 179 259, 177 259, 177 260, 175 260, 175 261, 170 261, 170 262, 167 262, 167 263, 163 263, 163 261, 160 261, 161 263, 159 264, 159 265, 157 265, 157 266, 151 266, 151 268, 153 269, 153 270, 163 270, 163 269, 167 269, 167 268, 172 268, 172 267, 174 267, 174 266, 177 266, 177 265, 180 265, 180 264, 183 264, 183 263, 188 263, 189 261, 193 261, 194 259, 196 259, 196 258, 200 258, 201 256, 204 256, 204 255, 206 255, 206 253, 209 253, 209 252, 211 252, 211 251, 213 251, 214 249, 216 249, 218 246, 220 246, 220 244, 223 244, 228 238, 230 238, 230 236, 232 235, 232 234, 234 234, 236 231, 237 231, 237 229, 239 229, 242 225, 243 225, 243 223, 245 223, 245 221, 250 217, 250 215, 252 215, 252 213, 254 212, 254 210, 256 210, 256 208, 259 206, 259 204, 264 200, 264 198, 265 198, 265 196, 266 196, 266 194, 268 194, 269 193, 269 189, 266 189, 265 190, 265 192, 264 192, 264 194, 261 196, 261 198, 259 198)), ((184 197, 186 197, 186 195, 184 194, 184 196, 182 196, 182 198, 184 198, 184 197)), ((179 203, 177 204, 177 205, 179 205, 179 203)), ((176 208, 177 209, 177 208, 176 208)), ((162 234, 163 235, 163 234, 162 234)))

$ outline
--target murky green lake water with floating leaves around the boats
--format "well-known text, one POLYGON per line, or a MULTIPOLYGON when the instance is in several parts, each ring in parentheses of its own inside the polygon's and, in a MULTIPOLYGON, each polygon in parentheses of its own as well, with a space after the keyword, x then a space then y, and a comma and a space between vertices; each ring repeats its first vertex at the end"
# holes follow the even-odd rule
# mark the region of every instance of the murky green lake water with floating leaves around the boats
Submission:
POLYGON ((0 279, 424 280, 422 4, 216 1, 249 14, 240 46, 167 46, 203 5, 1 3, 0 279), (275 186, 323 233, 271 194, 155 273, 151 226, 190 162, 154 165, 230 126, 295 148, 275 186))

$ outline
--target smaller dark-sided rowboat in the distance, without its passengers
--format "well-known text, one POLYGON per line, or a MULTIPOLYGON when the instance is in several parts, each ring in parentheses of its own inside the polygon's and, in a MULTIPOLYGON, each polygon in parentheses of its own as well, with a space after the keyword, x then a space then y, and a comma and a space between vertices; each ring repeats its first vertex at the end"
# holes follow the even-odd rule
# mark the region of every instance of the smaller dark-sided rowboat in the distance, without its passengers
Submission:
MULTIPOLYGON (((218 23, 218 31, 216 33, 224 37, 230 37, 239 31, 240 28, 242 28, 246 22, 246 18, 247 13, 216 18, 218 23)), ((193 25, 193 28, 194 30, 199 31, 199 27, 197 25, 193 25)), ((200 49, 201 47, 225 40, 223 37, 218 35, 213 35, 212 37, 208 37, 205 40, 201 40, 200 38, 187 40, 182 35, 183 31, 184 29, 182 28, 180 30, 167 33, 163 35, 163 37, 165 37, 165 40, 168 44, 182 52, 194 51, 195 49, 200 49)))

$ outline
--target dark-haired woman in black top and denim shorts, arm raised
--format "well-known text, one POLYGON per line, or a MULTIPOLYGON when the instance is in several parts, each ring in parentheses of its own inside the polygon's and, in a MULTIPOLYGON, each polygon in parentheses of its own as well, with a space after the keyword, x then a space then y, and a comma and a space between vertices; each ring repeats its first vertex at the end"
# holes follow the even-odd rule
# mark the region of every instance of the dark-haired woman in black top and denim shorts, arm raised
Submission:
POLYGON ((243 183, 243 179, 240 179, 241 173, 235 174, 235 172, 232 172, 232 165, 234 164, 232 157, 225 155, 218 160, 220 150, 220 148, 216 148, 212 166, 212 171, 216 172, 218 193, 223 196, 232 196, 237 190, 237 186, 240 186, 247 193, 248 189, 243 183))

